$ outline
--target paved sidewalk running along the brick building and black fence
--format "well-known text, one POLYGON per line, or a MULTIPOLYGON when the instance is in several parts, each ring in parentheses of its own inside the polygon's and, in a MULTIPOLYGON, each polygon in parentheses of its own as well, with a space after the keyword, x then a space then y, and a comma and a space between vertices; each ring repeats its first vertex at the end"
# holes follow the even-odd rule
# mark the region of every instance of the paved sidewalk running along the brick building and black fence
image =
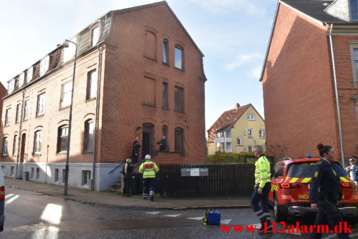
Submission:
MULTIPOLYGON (((36 181, 24 181, 11 177, 4 177, 7 187, 19 190, 34 191, 50 196, 62 197, 66 200, 89 204, 103 204, 125 207, 155 207, 168 209, 194 209, 194 208, 239 208, 250 207, 249 197, 239 198, 160 198, 156 195, 154 202, 148 198, 144 200, 141 194, 123 197, 118 193, 89 191, 77 188, 68 188, 68 195, 63 196, 63 186, 46 184, 36 181)), ((6 193, 6 189, 5 189, 6 193)))

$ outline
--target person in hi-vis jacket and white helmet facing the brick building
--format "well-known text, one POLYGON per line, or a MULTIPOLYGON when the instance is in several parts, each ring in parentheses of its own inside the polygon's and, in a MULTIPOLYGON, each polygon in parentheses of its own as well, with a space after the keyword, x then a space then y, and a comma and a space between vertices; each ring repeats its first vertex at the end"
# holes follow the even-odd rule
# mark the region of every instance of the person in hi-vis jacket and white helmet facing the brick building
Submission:
POLYGON ((139 167, 139 172, 143 174, 143 198, 147 199, 148 191, 150 200, 154 200, 154 189, 156 186, 156 173, 159 171, 159 168, 156 166, 155 162, 151 161, 150 155, 146 155, 145 162, 143 162, 139 167))

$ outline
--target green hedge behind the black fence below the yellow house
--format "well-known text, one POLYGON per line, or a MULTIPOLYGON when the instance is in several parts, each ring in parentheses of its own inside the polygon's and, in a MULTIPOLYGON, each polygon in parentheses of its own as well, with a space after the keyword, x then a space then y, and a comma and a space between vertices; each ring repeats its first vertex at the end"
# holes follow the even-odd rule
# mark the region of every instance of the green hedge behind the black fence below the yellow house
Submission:
MULTIPOLYGON (((215 152, 213 155, 206 156, 207 163, 244 163, 244 158, 240 157, 243 155, 253 155, 253 152, 241 152, 237 154, 228 152, 215 152)), ((248 163, 255 162, 256 159, 247 159, 248 163)))

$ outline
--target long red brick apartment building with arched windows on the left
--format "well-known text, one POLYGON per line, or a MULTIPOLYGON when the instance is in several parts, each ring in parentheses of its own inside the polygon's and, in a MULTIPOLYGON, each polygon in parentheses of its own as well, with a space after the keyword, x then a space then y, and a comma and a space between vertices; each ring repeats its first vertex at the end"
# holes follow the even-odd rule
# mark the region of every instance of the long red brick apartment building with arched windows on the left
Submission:
MULTIPOLYGON (((203 54, 166 1, 110 11, 69 39, 78 46, 70 186, 88 188, 93 179, 95 190, 108 189, 120 168, 109 172, 131 157, 136 136, 140 158, 155 155, 164 134, 170 152, 156 163, 204 162, 203 54)), ((28 171, 33 180, 63 182, 75 55, 69 45, 9 81, 1 118, 7 176, 28 171)))

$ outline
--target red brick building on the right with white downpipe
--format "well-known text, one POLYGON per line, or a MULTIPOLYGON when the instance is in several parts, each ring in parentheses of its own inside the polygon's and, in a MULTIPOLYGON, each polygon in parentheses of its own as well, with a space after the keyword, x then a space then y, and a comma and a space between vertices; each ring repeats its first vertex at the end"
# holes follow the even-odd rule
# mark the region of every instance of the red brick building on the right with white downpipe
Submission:
POLYGON ((357 3, 279 0, 260 79, 268 149, 318 156, 323 143, 336 159, 358 154, 357 3))

